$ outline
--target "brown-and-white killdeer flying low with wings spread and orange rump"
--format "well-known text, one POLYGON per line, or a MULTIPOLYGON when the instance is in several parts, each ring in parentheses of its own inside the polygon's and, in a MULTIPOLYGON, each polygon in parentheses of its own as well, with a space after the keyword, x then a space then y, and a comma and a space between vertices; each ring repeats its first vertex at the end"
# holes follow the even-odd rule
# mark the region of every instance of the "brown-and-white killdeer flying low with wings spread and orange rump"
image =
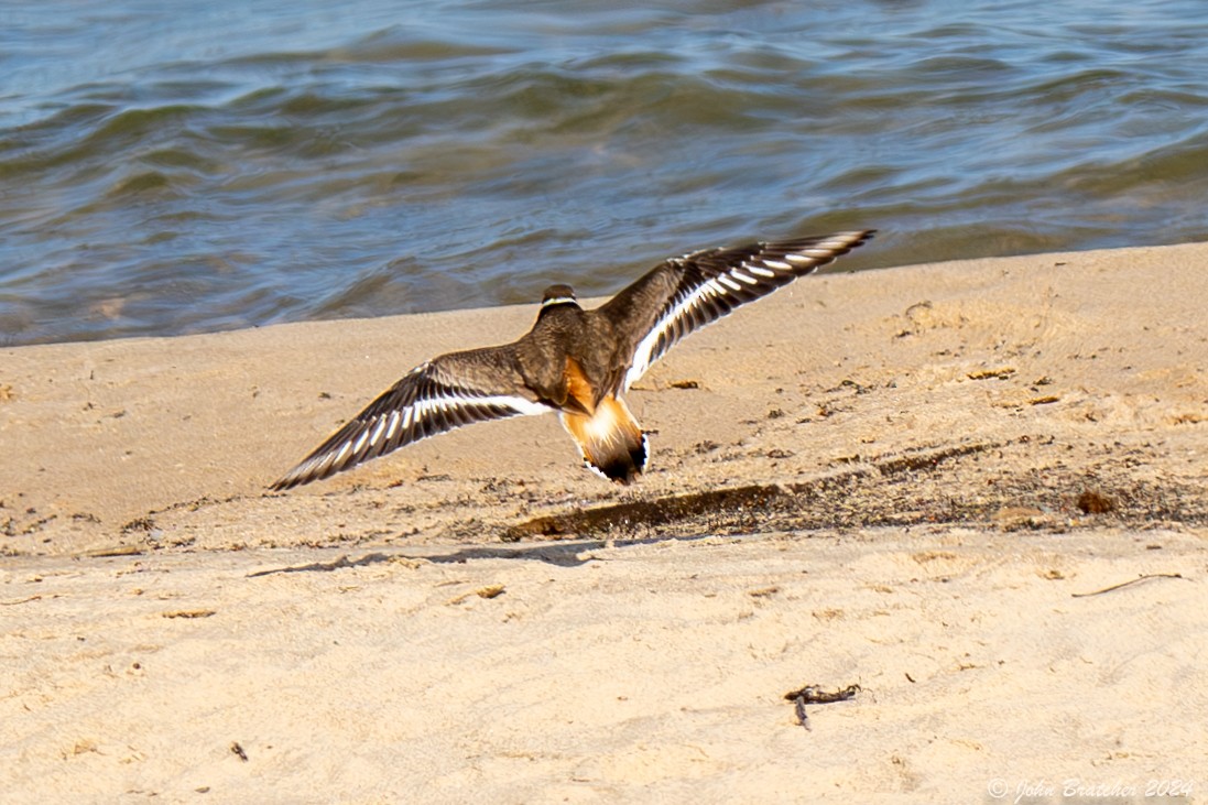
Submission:
POLYGON ((532 413, 557 413, 586 467, 629 483, 646 465, 646 436, 621 399, 634 381, 690 332, 812 273, 872 232, 692 251, 591 311, 570 285, 551 285, 518 341, 412 369, 272 488, 318 481, 474 422, 532 413))

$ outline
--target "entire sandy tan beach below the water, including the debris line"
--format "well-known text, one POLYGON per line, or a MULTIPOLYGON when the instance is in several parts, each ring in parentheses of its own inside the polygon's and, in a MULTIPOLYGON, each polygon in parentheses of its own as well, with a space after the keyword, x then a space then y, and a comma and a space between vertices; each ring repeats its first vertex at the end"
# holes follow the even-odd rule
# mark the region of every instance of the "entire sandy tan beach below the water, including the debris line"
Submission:
POLYGON ((0 799, 1203 801, 1206 266, 802 280, 629 488, 535 417, 265 491, 532 306, 5 349, 0 799))

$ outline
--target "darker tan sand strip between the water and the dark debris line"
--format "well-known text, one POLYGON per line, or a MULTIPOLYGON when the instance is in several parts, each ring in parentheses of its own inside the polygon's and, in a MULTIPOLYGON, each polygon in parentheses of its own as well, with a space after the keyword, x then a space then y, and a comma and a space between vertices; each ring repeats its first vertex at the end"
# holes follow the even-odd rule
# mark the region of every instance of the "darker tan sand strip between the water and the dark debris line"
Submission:
POLYGON ((553 417, 522 417, 266 494, 403 372, 516 337, 535 305, 11 348, 0 352, 0 434, 16 471, 0 516, 21 533, 5 548, 66 555, 139 544, 147 519, 180 508, 324 511, 320 498, 400 483, 395 498, 429 506, 467 490, 486 490, 488 504, 510 497, 492 493, 494 481, 523 487, 541 511, 559 498, 800 483, 867 459, 1016 444, 1029 423, 1094 439, 1132 421, 1131 430, 1181 438, 1208 417, 1195 352, 1208 353, 1195 302, 1208 297, 1203 259, 1208 244, 808 277, 693 335, 635 384, 629 400, 652 432, 652 456, 628 490, 581 471, 553 417))

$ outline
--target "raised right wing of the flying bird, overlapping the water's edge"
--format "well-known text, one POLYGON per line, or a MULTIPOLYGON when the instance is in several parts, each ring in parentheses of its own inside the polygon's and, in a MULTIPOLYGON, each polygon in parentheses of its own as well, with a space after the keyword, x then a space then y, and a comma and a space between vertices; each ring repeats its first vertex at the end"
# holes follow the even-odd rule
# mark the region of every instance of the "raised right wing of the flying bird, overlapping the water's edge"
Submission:
POLYGON ((767 296, 872 237, 875 230, 705 249, 667 260, 599 311, 631 342, 628 389, 680 338, 767 296))

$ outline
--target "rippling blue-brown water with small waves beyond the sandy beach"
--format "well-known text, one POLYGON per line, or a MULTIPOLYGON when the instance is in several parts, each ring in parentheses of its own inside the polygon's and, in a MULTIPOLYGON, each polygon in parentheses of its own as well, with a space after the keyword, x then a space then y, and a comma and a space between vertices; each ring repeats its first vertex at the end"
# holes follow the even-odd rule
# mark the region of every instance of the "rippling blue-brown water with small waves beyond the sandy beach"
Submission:
POLYGON ((7 346, 836 227, 882 230, 854 268, 1202 241, 1206 198, 1201 0, 0 0, 7 346))

